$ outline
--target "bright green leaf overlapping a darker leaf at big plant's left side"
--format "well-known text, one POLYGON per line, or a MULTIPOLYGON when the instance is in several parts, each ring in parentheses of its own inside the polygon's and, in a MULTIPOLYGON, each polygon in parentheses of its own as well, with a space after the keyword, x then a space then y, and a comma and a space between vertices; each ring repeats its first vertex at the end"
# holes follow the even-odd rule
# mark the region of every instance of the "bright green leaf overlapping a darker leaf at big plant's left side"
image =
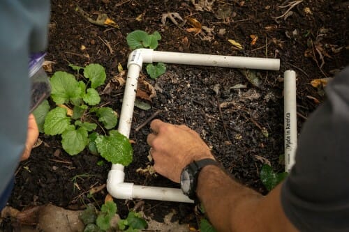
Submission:
POLYGON ((56 107, 47 113, 44 132, 49 135, 61 134, 70 125, 70 118, 66 116, 66 109, 56 107))

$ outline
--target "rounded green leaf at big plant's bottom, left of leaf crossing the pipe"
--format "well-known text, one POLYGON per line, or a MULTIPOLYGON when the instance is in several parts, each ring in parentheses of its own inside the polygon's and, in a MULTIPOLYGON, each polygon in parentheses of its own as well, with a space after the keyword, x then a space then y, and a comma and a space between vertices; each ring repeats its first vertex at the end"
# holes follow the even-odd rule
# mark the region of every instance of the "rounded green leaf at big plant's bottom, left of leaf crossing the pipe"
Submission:
POLYGON ((87 130, 80 127, 65 130, 62 134, 62 146, 69 155, 77 155, 82 152, 89 143, 87 130))

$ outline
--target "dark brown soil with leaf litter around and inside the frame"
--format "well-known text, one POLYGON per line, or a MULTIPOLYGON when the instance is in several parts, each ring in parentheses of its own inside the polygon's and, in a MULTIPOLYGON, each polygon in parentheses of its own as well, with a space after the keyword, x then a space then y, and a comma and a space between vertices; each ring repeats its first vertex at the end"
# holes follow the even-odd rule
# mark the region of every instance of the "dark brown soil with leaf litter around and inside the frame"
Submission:
MULTIPOLYGON (((52 73, 58 70, 72 72, 69 63, 80 66, 100 63, 106 69, 107 81, 110 81, 118 73, 118 63, 126 69, 131 52, 126 36, 136 29, 161 33, 157 48, 161 51, 281 59, 280 71, 256 72, 260 88, 251 85, 240 70, 233 68, 167 65, 167 71, 158 79, 147 78, 147 82, 156 86, 157 95, 150 110, 135 108, 130 136, 135 141, 134 161, 126 167, 127 182, 179 187, 161 176, 136 172, 149 164, 146 143, 149 125, 138 132, 135 128, 161 110, 158 118, 170 123, 184 123, 196 130, 234 178, 266 194, 259 178, 263 164, 260 157, 269 160, 274 171, 284 169, 279 162, 279 156, 283 154, 283 72, 288 69, 297 72, 300 131, 306 117, 318 106, 309 96, 320 102, 323 100, 321 92, 311 86, 311 80, 333 77, 334 72, 349 61, 348 1, 304 1, 292 8, 292 15, 286 19, 275 20, 273 17, 283 15, 288 9, 277 6, 288 2, 216 1, 212 10, 198 11, 191 1, 56 0, 52 1, 46 59, 55 62, 52 73), (119 29, 91 24, 75 10, 77 5, 94 18, 98 13, 106 13, 119 24, 119 29), (220 11, 228 12, 225 18, 217 16, 220 11), (195 33, 186 31, 193 27, 188 23, 176 26, 167 20, 163 25, 162 14, 171 12, 177 12, 183 18, 192 17, 214 29, 211 41, 205 40, 206 32, 195 36, 195 33), (220 29, 225 29, 225 33, 218 33, 220 29), (251 45, 251 35, 258 36, 255 45, 251 45), (228 39, 241 43, 244 49, 235 49, 228 39), (320 53, 325 61, 322 68, 320 53), (232 88, 236 84, 246 84, 247 88, 232 88), (223 102, 234 104, 219 107, 223 102), (263 135, 263 127, 269 136, 263 135)), ((114 89, 109 95, 103 95, 101 105, 120 112, 122 97, 123 89, 114 89)), ((94 198, 88 194, 91 187, 105 183, 110 164, 105 162, 98 166, 97 162, 103 159, 87 150, 75 156, 66 154, 59 137, 40 134, 40 139, 43 144, 34 148, 29 160, 18 168, 9 205, 22 210, 53 203, 64 208, 81 209, 86 203, 103 203, 107 194, 105 189, 94 194, 94 198)), ((121 217, 138 201, 116 200, 121 217)), ((174 209, 180 222, 195 224, 191 204, 145 201, 142 207, 144 212, 158 220, 174 209)))

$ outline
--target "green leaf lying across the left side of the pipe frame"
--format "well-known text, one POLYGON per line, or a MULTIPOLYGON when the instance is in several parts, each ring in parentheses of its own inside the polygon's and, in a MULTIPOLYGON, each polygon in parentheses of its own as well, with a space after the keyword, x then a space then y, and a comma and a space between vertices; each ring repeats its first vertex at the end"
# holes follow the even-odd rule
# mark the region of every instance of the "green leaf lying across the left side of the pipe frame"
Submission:
POLYGON ((112 164, 128 166, 132 162, 133 149, 128 138, 117 130, 110 130, 109 136, 99 135, 95 140, 98 153, 112 164))

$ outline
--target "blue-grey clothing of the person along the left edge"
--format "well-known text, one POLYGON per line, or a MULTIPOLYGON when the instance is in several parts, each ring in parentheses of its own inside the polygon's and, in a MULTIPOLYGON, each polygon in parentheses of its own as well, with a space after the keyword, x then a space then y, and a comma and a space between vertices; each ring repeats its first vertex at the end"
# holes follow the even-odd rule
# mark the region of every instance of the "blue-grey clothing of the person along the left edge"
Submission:
POLYGON ((50 1, 0 1, 0 195, 24 150, 30 101, 28 57, 45 50, 50 1))

